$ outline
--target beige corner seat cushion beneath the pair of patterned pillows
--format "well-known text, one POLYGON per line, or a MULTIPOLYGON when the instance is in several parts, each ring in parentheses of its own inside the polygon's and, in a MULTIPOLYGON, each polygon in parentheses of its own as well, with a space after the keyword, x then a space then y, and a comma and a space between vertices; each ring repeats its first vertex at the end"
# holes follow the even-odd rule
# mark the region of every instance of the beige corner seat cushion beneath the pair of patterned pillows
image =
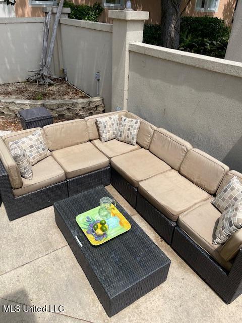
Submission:
POLYGON ((139 145, 133 146, 126 142, 118 141, 116 139, 101 142, 100 139, 92 141, 92 144, 97 147, 105 156, 112 158, 115 156, 123 155, 124 153, 140 149, 139 145))

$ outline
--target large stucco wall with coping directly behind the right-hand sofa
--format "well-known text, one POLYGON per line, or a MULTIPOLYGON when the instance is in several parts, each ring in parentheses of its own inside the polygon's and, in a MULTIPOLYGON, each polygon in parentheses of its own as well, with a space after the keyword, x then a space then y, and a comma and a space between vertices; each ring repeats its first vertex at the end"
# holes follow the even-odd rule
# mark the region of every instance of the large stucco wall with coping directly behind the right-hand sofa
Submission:
POLYGON ((242 171, 242 64, 130 44, 128 110, 242 171))

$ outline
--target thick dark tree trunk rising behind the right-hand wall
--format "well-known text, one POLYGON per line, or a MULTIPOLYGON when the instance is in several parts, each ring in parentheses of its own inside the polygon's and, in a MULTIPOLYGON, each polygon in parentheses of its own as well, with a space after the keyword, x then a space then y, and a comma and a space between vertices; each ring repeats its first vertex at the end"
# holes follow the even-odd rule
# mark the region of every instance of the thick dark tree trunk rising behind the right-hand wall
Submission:
POLYGON ((161 3, 161 45, 177 49, 180 32, 181 0, 162 0, 161 3))

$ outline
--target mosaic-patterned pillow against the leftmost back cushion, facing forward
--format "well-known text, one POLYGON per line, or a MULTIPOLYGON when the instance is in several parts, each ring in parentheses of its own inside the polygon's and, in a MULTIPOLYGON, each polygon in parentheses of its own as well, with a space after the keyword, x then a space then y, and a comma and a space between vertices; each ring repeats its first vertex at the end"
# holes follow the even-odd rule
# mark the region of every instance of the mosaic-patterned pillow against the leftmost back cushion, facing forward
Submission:
POLYGON ((36 130, 28 137, 15 140, 14 143, 24 149, 32 166, 50 155, 40 130, 36 130))

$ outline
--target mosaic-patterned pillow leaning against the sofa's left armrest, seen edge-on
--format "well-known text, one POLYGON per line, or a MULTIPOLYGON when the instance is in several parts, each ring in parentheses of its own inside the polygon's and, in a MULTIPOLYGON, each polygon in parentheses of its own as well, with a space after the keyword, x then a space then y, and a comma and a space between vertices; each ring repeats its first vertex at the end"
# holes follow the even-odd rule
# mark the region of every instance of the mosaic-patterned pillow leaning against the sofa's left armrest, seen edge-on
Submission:
POLYGON ((9 143, 9 148, 10 148, 11 155, 16 161, 16 164, 19 168, 21 176, 26 178, 27 180, 32 180, 33 178, 32 165, 30 163, 29 157, 27 156, 26 152, 13 142, 9 143))

